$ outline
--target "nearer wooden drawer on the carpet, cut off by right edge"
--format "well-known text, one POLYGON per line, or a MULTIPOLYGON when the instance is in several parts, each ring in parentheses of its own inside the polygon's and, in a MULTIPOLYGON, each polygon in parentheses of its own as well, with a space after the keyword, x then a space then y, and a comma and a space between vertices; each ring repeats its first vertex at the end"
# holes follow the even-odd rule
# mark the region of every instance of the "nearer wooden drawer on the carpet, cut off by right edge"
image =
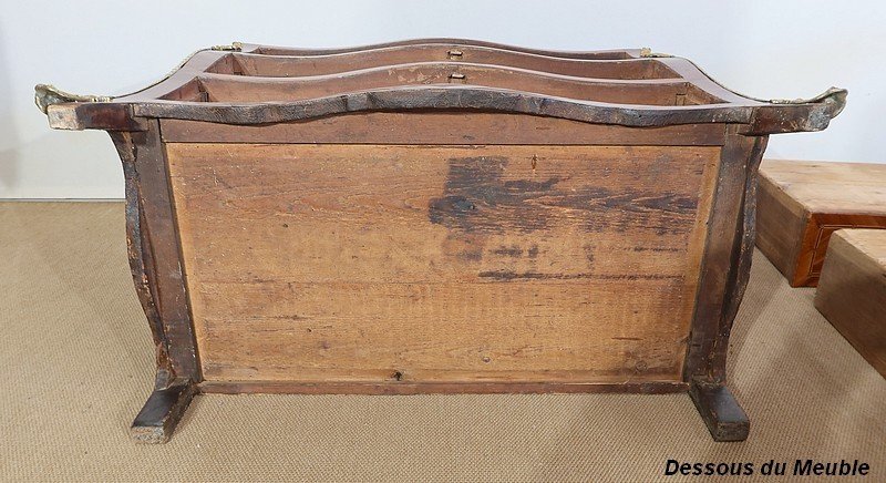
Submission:
POLYGON ((886 378, 886 230, 834 232, 815 308, 886 378))

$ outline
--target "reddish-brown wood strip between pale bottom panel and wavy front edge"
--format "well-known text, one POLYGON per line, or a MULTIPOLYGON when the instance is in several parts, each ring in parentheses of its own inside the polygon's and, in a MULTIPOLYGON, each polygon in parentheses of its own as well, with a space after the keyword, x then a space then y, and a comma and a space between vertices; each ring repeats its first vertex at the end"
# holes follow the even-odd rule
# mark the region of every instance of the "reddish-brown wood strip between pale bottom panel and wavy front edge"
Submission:
POLYGON ((719 146, 724 138, 722 124, 631 129, 471 111, 371 112, 257 126, 182 120, 161 125, 171 143, 719 146))

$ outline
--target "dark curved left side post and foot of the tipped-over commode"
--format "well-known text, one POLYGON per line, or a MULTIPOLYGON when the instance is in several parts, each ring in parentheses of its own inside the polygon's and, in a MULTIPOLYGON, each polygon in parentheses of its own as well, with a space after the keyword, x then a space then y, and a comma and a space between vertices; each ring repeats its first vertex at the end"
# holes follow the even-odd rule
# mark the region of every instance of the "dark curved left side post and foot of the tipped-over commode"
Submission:
POLYGON ((200 379, 178 238, 172 216, 159 124, 147 131, 110 132, 126 181, 126 243, 135 291, 151 326, 155 388, 132 424, 140 442, 165 442, 200 379))

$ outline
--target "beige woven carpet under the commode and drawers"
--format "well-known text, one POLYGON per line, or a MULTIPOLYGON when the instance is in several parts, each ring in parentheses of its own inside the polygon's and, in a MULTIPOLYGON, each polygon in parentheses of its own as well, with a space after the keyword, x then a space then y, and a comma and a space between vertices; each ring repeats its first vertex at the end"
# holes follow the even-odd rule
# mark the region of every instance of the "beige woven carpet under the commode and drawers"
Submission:
POLYGON ((886 381, 813 295, 758 254, 730 358, 743 443, 713 443, 686 394, 200 395, 169 443, 135 445, 153 356, 123 205, 2 203, 0 479, 681 481, 668 459, 814 458, 886 481, 886 381))

